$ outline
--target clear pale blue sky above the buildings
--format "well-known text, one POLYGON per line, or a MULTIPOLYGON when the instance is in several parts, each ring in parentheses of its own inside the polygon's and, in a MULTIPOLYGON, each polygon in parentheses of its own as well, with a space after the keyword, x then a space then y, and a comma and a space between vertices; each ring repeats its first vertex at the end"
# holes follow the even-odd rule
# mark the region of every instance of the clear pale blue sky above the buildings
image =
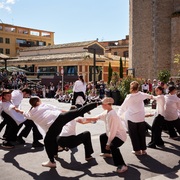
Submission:
POLYGON ((123 39, 128 0, 0 0, 3 23, 55 32, 55 44, 123 39))

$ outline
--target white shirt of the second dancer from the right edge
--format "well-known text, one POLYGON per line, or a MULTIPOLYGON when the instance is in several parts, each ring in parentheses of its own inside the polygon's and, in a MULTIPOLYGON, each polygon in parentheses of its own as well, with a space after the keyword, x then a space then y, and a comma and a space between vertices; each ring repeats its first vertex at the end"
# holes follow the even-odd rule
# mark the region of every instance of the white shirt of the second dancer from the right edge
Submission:
POLYGON ((164 111, 164 106, 165 106, 165 98, 164 95, 158 95, 158 96, 153 96, 153 99, 156 100, 157 103, 157 109, 155 116, 158 116, 160 114, 161 116, 165 116, 165 111, 164 111))

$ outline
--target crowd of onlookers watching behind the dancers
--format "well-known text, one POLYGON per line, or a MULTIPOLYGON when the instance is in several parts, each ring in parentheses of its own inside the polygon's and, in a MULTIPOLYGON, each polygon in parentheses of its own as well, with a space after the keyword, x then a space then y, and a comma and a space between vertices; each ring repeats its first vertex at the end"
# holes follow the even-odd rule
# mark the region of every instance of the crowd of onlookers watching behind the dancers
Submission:
MULTIPOLYGON (((109 86, 107 86, 103 80, 100 80, 96 83, 95 88, 93 82, 86 82, 87 90, 86 96, 89 102, 95 101, 96 99, 102 99, 105 96, 108 96, 110 92, 109 86)), ((70 102, 72 99, 74 82, 64 82, 62 88, 62 82, 54 84, 49 83, 48 86, 43 85, 41 81, 30 82, 27 79, 27 76, 24 72, 13 72, 10 77, 6 70, 0 72, 0 89, 20 89, 20 88, 30 88, 32 89, 32 95, 37 95, 41 98, 55 98, 59 102, 70 102)), ((160 85, 164 88, 164 94, 167 94, 168 86, 173 85, 180 92, 180 80, 169 79, 168 83, 161 82, 154 79, 151 81, 142 80, 141 91, 149 94, 155 94, 155 88, 160 85)), ((145 101, 145 104, 148 104, 149 101, 145 101)))

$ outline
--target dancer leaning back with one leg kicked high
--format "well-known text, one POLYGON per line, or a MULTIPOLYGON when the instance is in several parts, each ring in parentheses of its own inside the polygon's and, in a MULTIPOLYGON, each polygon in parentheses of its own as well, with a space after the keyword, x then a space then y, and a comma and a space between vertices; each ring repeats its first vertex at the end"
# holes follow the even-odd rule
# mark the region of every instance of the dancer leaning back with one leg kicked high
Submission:
POLYGON ((56 167, 54 156, 58 152, 57 136, 61 133, 63 126, 100 104, 91 103, 79 109, 63 112, 56 106, 42 103, 37 96, 31 97, 29 103, 32 106, 29 112, 25 113, 19 109, 16 109, 16 111, 23 113, 28 119, 33 120, 44 131, 44 145, 49 161, 42 163, 42 166, 51 168, 56 167))

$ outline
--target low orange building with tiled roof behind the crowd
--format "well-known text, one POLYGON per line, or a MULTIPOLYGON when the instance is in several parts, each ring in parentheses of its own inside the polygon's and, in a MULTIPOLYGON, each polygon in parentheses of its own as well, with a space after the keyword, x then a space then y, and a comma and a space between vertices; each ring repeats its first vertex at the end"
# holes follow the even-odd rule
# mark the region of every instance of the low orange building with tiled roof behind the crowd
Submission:
MULTIPOLYGON (((113 71, 119 72, 120 56, 111 55, 98 41, 85 41, 51 46, 29 47, 20 52, 18 59, 8 60, 7 66, 17 66, 26 69, 32 75, 39 72, 40 78, 45 76, 63 76, 66 81, 74 81, 73 77, 82 74, 86 82, 93 81, 94 54, 87 49, 96 49, 96 81, 108 80, 108 66, 111 63, 113 71), (101 54, 99 54, 101 50, 101 54)), ((124 61, 124 75, 128 67, 128 58, 124 61)), ((1 62, 3 66, 3 61, 1 62)), ((57 78, 57 77, 56 77, 57 78)))

